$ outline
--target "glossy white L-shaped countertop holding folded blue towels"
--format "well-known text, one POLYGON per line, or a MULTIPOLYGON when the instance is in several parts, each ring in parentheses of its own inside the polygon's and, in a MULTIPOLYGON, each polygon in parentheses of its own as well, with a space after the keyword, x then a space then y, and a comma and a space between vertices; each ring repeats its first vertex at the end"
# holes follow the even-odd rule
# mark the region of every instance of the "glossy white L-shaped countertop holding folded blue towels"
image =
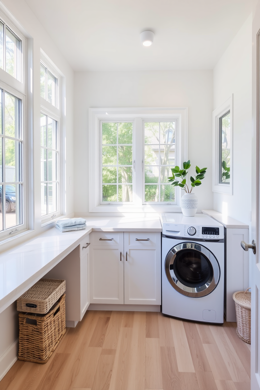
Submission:
POLYGON ((0 254, 0 313, 64 259, 92 231, 161 232, 158 216, 85 218, 87 229, 55 227, 0 254))

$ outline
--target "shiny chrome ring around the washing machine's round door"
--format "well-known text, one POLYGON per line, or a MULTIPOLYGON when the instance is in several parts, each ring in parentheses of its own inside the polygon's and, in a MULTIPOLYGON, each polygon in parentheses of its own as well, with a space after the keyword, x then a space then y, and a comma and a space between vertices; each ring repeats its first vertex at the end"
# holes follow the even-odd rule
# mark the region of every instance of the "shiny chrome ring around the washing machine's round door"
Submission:
POLYGON ((186 242, 175 245, 166 256, 164 268, 167 279, 172 285, 172 287, 180 294, 192 298, 199 298, 210 294, 216 288, 219 282, 220 268, 216 257, 212 254, 212 252, 210 252, 209 249, 205 248, 205 246, 197 243, 186 242), (212 267, 212 272, 210 273, 209 280, 207 280, 207 282, 205 282, 199 287, 188 287, 182 284, 182 282, 180 282, 180 280, 178 280, 178 278, 176 277, 173 269, 170 270, 170 265, 173 264, 173 262, 175 261, 177 252, 183 249, 193 249, 202 253, 205 257, 207 257, 212 267))

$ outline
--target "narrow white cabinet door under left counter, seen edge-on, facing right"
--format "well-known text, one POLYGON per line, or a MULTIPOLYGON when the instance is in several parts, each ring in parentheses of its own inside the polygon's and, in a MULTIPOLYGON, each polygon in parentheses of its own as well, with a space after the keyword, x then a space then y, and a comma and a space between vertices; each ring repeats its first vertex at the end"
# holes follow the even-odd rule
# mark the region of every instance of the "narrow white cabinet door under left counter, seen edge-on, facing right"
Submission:
POLYGON ((89 306, 89 235, 80 243, 80 319, 89 306))

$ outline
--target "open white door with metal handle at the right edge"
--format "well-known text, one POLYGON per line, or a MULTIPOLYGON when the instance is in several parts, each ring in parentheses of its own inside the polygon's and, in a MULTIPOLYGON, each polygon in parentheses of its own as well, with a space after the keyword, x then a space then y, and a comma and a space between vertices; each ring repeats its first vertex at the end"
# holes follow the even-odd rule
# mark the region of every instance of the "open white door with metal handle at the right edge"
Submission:
MULTIPOLYGON (((252 239, 256 242, 256 255, 251 252, 251 389, 260 389, 260 259, 259 259, 259 98, 260 98, 260 1, 253 12, 252 57, 252 239)), ((251 243, 250 243, 251 244, 251 243)), ((251 251, 251 249, 249 249, 251 251)))

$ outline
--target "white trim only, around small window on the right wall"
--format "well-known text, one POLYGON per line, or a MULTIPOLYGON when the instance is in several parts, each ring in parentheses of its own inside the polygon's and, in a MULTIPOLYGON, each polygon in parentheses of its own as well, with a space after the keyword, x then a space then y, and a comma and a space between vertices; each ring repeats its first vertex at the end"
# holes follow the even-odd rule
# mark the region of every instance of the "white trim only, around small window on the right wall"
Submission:
POLYGON ((213 111, 212 191, 233 195, 233 94, 213 111), (219 183, 219 118, 230 111, 230 183, 219 183))

